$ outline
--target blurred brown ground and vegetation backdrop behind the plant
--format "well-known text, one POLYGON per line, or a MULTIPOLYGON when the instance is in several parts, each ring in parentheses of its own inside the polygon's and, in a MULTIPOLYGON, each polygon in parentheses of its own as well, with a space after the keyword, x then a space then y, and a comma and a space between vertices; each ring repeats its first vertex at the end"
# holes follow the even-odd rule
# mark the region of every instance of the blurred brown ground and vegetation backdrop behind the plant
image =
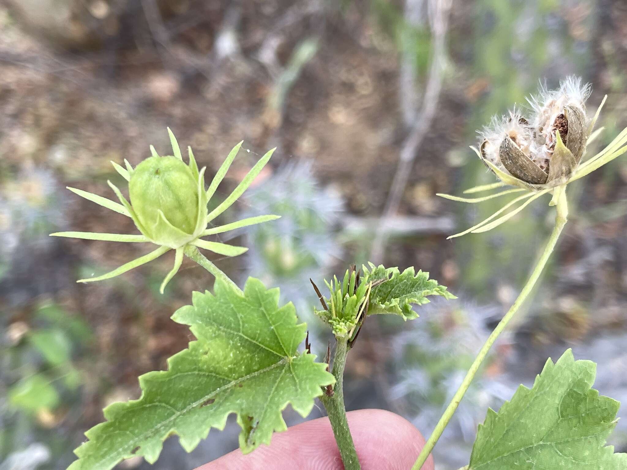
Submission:
MULTIPOLYGON (((369 322, 347 368, 349 409, 393 410, 428 435, 552 224, 547 198, 446 241, 502 202, 435 193, 493 181, 468 145, 539 80, 581 75, 589 112, 609 95, 589 152, 600 149, 627 125, 626 67, 623 0, 0 0, 0 469, 65 469, 102 407, 138 397, 137 376, 193 339, 169 317, 213 285, 186 262, 159 295, 169 256, 76 285, 149 248, 48 237, 134 232, 66 185, 112 197, 107 179, 122 180, 110 160, 135 165, 149 144, 168 153, 169 126, 209 178, 245 140, 217 204, 277 146, 219 222, 282 219, 231 234, 250 251, 212 260, 238 283, 279 286, 319 355, 330 337, 308 278, 374 261, 449 286, 459 300, 435 300, 418 320, 369 322)), ((436 446, 438 470, 467 464, 487 407, 568 347, 599 362, 602 394, 627 400, 627 159, 569 188, 559 248, 436 446)), ((154 468, 210 461, 238 431, 229 420, 191 454, 172 437, 154 468)), ((612 443, 627 450, 627 420, 612 443)))

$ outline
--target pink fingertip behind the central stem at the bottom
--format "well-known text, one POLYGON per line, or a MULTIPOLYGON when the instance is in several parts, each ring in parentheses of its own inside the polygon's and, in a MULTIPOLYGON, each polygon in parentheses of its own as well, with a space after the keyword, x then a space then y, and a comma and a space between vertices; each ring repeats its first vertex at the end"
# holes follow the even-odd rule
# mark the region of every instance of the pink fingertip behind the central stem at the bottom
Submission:
MULTIPOLYGON (((403 417, 385 410, 347 414, 362 470, 408 470, 424 446, 424 437, 403 417)), ((243 455, 239 449, 196 470, 342 470, 329 419, 319 418, 290 427, 243 455)), ((423 470, 433 470, 429 456, 423 470)))

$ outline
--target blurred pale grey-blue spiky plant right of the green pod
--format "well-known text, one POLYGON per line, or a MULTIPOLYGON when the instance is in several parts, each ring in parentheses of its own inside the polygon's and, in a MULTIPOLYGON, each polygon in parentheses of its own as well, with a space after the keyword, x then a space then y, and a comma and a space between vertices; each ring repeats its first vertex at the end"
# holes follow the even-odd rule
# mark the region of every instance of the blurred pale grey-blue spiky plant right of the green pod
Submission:
MULTIPOLYGON (((281 216, 271 224, 246 232, 250 246, 248 269, 266 285, 279 286, 283 298, 300 303, 314 295, 309 278, 320 274, 341 249, 335 243, 335 223, 344 203, 330 189, 321 187, 311 165, 302 161, 281 167, 275 175, 250 190, 247 201, 254 211, 281 216)), ((249 216, 246 211, 242 216, 249 216)))

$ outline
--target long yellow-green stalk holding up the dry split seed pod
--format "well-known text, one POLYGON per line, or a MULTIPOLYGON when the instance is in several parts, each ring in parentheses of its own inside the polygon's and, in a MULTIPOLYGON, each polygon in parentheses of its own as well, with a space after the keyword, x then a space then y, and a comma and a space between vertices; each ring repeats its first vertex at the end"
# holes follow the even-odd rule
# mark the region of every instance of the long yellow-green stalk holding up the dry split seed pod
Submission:
POLYGON ((457 390, 457 392, 455 392, 453 399, 451 400, 450 404, 448 404, 448 407, 446 407, 444 414, 442 415, 442 417, 440 418, 440 421, 438 422, 435 429, 433 430, 433 434, 431 434, 431 437, 429 437, 429 440, 426 442, 426 444, 424 444, 423 450, 420 452, 420 455, 418 456, 416 463, 414 463, 414 466, 411 467, 412 470, 420 470, 422 468, 427 457, 433 450, 433 447, 435 446, 436 442, 438 442, 438 439, 440 439, 440 436, 442 435, 442 432, 444 431, 446 425, 448 424, 451 417, 453 416, 453 413, 455 413, 455 410, 460 404, 461 399, 466 393, 466 390, 468 390, 468 387, 470 387, 470 383, 475 377, 475 374, 477 373, 477 370, 479 369, 481 363, 483 362, 483 359, 485 359, 493 343, 497 340, 498 335, 500 335, 500 333, 505 329, 505 326, 507 326, 507 323, 509 323, 509 321, 512 320, 512 318, 514 317, 515 313, 519 310, 522 303, 525 301, 527 296, 529 296, 529 293, 534 288, 534 285, 537 282, 538 278, 540 277, 540 274, 542 273, 544 266, 546 266, 547 261, 549 261, 551 253, 556 246, 557 239, 559 239, 562 229, 564 229, 564 225, 566 225, 566 221, 567 221, 568 208, 567 208, 567 202, 566 202, 566 186, 560 186, 554 189, 553 200, 556 202, 556 206, 557 206, 555 226, 553 228, 553 232, 551 233, 551 237, 549 238, 549 241, 547 242, 544 248, 544 252, 542 253, 542 256, 540 256, 538 263, 535 265, 534 271, 532 271, 531 276, 529 276, 529 280, 527 280, 527 284, 525 284, 524 288, 522 288, 522 291, 520 292, 520 295, 514 302, 514 305, 512 305, 512 307, 507 311, 507 313, 505 313, 505 316, 503 316, 502 320, 498 323, 497 327, 494 328, 494 331, 492 332, 492 334, 490 334, 490 337, 488 337, 487 341, 485 342, 485 344, 479 351, 477 357, 475 358, 475 362, 472 363, 472 365, 470 366, 470 370, 468 370, 468 373, 466 373, 466 377, 464 377, 463 382, 461 382, 460 388, 457 390))

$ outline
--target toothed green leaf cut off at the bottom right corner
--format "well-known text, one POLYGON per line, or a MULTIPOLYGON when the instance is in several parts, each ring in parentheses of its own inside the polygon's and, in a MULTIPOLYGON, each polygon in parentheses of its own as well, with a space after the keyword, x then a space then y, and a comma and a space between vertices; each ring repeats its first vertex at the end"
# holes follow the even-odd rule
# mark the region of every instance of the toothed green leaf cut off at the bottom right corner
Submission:
POLYGON ((520 385, 498 413, 488 410, 467 468, 626 469, 627 454, 605 446, 619 402, 591 388, 595 376, 596 364, 575 361, 570 349, 547 360, 532 389, 520 385))

